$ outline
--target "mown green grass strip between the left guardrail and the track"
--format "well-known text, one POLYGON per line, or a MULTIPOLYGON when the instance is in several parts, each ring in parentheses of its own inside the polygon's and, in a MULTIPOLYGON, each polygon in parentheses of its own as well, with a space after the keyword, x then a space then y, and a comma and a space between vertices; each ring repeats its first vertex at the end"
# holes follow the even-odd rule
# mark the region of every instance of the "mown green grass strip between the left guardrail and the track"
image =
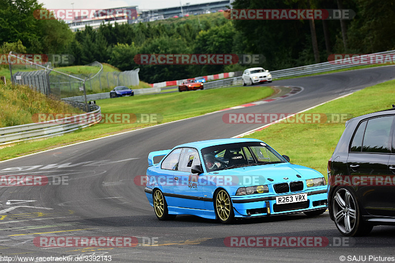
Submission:
MULTIPOLYGON (((101 107, 102 113, 133 113, 137 115, 139 113, 154 113, 158 115, 161 122, 169 122, 260 100, 272 93, 273 89, 269 87, 230 87, 121 97, 100 100, 97 103, 101 107)), ((0 151, 0 160, 155 124, 99 123, 60 137, 36 142, 22 142, 11 147, 5 147, 0 151)))

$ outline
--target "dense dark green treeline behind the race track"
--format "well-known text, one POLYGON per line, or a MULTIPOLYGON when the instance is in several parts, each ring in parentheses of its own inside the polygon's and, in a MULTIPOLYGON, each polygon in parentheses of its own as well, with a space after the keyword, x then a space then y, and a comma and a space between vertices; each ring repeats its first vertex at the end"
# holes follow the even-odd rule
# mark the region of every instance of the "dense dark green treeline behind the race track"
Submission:
POLYGON ((140 79, 150 83, 249 66, 143 66, 133 61, 136 54, 263 54, 266 61, 260 66, 278 70, 325 62, 332 53, 395 49, 393 0, 235 0, 233 8, 239 9, 348 8, 356 16, 351 20, 228 20, 223 13, 215 13, 114 27, 103 24, 75 34, 62 22, 36 20, 33 11, 41 8, 37 0, 0 3, 5 5, 0 9, 0 43, 8 42, 2 52, 21 40, 27 53, 72 54, 74 65, 97 60, 120 70, 140 68, 140 79), (3 14, 12 14, 13 19, 3 14), (18 14, 22 19, 15 19, 18 14))

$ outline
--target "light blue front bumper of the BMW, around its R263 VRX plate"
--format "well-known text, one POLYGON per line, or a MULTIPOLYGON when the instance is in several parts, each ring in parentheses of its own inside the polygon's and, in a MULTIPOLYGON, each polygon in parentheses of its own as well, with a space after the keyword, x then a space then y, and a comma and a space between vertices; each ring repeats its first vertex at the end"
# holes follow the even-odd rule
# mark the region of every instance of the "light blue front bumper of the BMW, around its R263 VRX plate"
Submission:
POLYGON ((260 217, 327 208, 326 188, 269 196, 231 196, 235 217, 260 217), (276 204, 276 196, 307 193, 307 201, 276 204), (269 209, 268 209, 269 208, 269 209))

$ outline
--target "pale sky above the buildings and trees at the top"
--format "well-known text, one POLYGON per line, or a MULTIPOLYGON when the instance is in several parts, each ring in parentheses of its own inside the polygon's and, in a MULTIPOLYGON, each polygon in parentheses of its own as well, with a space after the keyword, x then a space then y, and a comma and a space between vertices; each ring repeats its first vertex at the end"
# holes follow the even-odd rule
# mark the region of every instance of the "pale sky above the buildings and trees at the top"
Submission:
MULTIPOLYGON (((184 6, 190 4, 214 2, 217 0, 181 0, 184 6)), ((142 9, 161 9, 180 6, 180 0, 38 0, 47 9, 108 9, 122 6, 137 5, 142 9), (74 3, 74 7, 72 5, 74 3)))

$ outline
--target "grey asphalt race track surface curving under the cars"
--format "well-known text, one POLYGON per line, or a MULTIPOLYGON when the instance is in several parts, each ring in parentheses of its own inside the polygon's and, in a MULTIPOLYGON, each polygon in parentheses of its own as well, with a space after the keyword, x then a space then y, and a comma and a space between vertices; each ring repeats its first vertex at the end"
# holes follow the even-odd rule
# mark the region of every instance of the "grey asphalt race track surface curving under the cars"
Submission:
MULTIPOLYGON (((296 113, 394 76, 395 67, 376 67, 278 80, 272 84, 304 90, 226 113, 296 113)), ((389 105, 383 105, 386 107, 389 105)), ((394 257, 395 227, 377 226, 367 237, 342 239, 327 213, 315 218, 296 214, 243 219, 234 225, 194 216, 158 221, 144 187, 133 181, 145 175, 148 153, 181 143, 229 138, 262 125, 225 124, 224 113, 0 162, 0 175, 44 175, 50 183, 0 188, 0 260, 4 256, 81 255, 111 256, 112 262, 341 262, 340 256, 345 256, 348 262, 363 256, 366 261, 369 256, 394 257), (60 178, 64 181, 59 185, 60 178), (132 236, 139 244, 133 248, 37 247, 32 241, 40 236, 132 236), (230 236, 314 236, 325 237, 329 243, 326 247, 234 248, 224 245, 224 238, 230 236), (150 243, 155 244, 148 246, 150 243)), ((105 258, 99 261, 106 262, 105 258)))

